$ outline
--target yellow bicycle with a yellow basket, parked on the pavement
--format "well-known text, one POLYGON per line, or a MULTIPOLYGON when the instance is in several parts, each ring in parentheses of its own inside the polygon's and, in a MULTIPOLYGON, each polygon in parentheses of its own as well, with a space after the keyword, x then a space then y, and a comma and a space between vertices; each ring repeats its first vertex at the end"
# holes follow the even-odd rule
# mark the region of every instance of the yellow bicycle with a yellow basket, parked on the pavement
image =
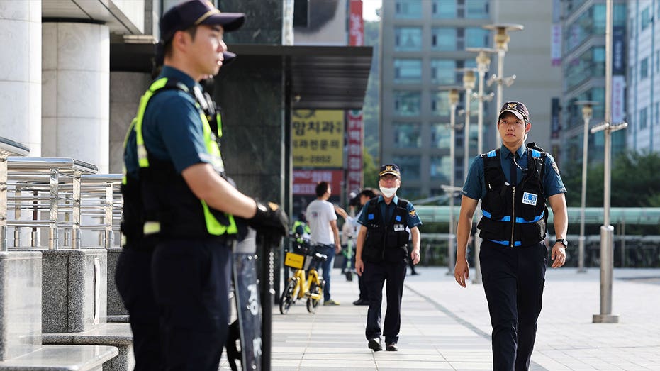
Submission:
POLYGON ((328 255, 314 253, 309 246, 296 242, 294 242, 293 250, 296 252, 287 251, 284 258, 284 265, 293 268, 293 275, 289 277, 286 288, 282 292, 279 300, 279 312, 281 314, 289 313, 292 304, 296 304, 298 299, 306 298, 307 311, 315 313, 318 303, 323 298, 325 279, 319 277, 315 267, 310 268, 310 265, 315 261, 325 262, 328 260, 328 255), (307 275, 305 275, 306 272, 307 275))

